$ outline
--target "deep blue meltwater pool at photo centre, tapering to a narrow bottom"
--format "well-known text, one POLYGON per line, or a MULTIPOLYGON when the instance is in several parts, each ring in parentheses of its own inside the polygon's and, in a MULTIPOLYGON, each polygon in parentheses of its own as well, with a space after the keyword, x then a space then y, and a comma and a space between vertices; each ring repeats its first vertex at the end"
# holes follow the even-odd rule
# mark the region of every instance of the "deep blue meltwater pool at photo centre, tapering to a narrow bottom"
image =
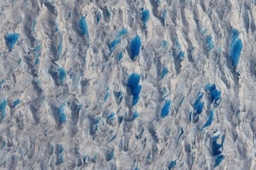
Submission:
POLYGON ((136 105, 139 100, 139 93, 141 92, 141 85, 139 85, 139 79, 141 75, 138 73, 133 73, 129 76, 127 87, 130 88, 131 94, 133 95, 132 105, 136 105))

